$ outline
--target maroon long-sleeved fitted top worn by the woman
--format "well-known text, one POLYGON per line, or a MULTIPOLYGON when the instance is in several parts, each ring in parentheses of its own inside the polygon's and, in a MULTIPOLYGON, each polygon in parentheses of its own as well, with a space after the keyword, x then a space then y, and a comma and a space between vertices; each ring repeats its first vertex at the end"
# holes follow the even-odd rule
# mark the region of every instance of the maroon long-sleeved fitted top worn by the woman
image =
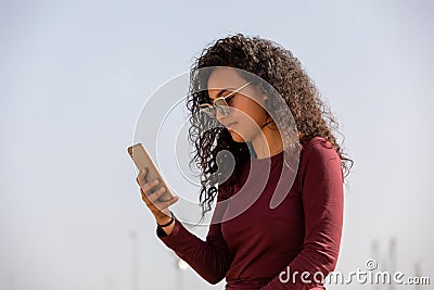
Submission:
POLYGON ((264 190, 242 214, 225 220, 225 216, 233 216, 240 209, 237 201, 224 205, 218 194, 205 241, 179 220, 170 235, 157 230, 158 238, 208 282, 226 278, 227 290, 324 289, 322 282, 316 281, 334 269, 341 244, 341 159, 321 137, 302 141, 302 146, 295 181, 276 209, 270 209, 270 200, 284 174, 283 152, 248 164, 252 182, 245 182, 246 169, 233 192, 264 188, 256 180, 267 174, 267 162, 271 167, 264 190), (294 276, 295 272, 298 275, 294 276), (308 274, 302 279, 303 272, 308 274))

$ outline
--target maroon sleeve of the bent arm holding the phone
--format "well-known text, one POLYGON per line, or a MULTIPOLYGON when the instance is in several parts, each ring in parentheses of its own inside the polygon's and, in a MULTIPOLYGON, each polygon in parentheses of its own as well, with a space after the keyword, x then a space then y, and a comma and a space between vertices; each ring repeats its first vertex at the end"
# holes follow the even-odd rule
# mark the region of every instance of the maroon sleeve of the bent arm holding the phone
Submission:
POLYGON ((178 219, 170 235, 157 228, 157 237, 201 277, 213 285, 225 278, 233 261, 233 255, 221 235, 221 223, 216 223, 216 220, 221 220, 225 212, 219 203, 219 197, 220 194, 217 198, 217 205, 205 241, 186 229, 178 219))

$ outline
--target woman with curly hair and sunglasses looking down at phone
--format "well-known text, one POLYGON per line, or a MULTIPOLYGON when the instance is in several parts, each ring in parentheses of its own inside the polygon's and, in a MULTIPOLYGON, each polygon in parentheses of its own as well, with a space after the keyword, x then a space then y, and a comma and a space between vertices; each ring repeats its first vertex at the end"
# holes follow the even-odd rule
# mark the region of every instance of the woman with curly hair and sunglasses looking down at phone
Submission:
POLYGON ((301 63, 269 40, 239 34, 203 51, 191 90, 190 139, 202 171, 203 216, 217 197, 216 210, 203 241, 168 210, 178 198, 159 202, 164 189, 151 193, 156 184, 145 182, 142 171, 137 181, 157 237, 208 282, 226 278, 226 289, 323 289, 339 256, 343 179, 353 161, 337 144, 337 123, 301 63), (279 115, 285 111, 273 89, 289 114, 279 115), (294 126, 284 126, 292 119, 286 115, 294 126), (299 160, 293 176, 285 169, 288 151, 299 160), (225 160, 229 152, 232 159, 225 160), (279 180, 286 187, 270 206, 279 180))

